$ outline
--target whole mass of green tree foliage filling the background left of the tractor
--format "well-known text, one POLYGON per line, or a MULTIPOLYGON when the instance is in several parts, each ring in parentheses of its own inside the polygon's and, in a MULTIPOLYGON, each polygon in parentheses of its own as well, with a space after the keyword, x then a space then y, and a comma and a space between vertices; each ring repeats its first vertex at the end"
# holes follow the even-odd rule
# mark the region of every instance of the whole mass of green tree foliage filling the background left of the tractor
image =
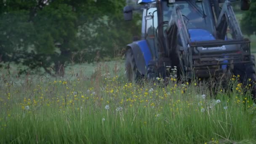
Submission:
POLYGON ((70 59, 91 62, 97 53, 98 59, 112 58, 139 33, 139 25, 123 21, 125 0, 4 0, 0 4, 1 60, 30 69, 43 67, 49 72, 52 67, 57 72, 70 59))

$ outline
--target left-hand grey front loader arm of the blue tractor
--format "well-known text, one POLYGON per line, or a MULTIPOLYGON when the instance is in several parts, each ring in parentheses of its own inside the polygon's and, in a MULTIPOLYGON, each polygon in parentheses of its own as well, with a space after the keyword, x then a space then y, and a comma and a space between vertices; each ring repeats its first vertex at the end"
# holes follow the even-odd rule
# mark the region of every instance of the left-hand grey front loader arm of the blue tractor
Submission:
POLYGON ((171 19, 165 29, 165 48, 173 65, 180 67, 184 73, 186 71, 184 66, 190 66, 189 43, 189 34, 181 9, 179 5, 174 5, 171 19))

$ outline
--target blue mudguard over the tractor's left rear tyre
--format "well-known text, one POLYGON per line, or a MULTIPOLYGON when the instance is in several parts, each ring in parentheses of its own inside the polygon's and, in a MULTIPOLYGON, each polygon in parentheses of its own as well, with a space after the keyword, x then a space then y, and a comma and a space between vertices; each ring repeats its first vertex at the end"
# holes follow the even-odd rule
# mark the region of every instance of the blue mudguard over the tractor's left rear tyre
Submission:
POLYGON ((147 65, 152 59, 152 53, 146 40, 134 41, 127 45, 127 49, 131 48, 138 71, 141 75, 147 74, 147 65))

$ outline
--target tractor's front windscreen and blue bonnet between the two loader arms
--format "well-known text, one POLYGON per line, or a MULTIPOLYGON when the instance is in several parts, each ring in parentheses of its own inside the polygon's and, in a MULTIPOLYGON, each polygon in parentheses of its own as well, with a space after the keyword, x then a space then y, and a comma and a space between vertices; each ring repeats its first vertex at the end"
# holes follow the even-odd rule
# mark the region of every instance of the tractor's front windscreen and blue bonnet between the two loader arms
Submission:
MULTIPOLYGON (((179 5, 184 19, 184 23, 189 32, 190 41, 215 40, 214 17, 209 7, 211 3, 208 0, 189 1, 179 0, 176 3, 163 1, 163 21, 172 20, 172 11, 174 5, 179 5)), ((165 28, 165 27, 164 27, 165 28)))

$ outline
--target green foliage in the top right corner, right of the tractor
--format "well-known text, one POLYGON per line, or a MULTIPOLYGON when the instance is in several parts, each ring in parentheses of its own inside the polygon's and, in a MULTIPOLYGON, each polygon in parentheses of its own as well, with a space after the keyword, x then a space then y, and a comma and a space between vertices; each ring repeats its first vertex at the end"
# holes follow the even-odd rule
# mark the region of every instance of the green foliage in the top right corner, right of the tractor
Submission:
POLYGON ((243 14, 241 29, 247 35, 253 35, 256 32, 256 1, 252 0, 249 11, 243 14))

